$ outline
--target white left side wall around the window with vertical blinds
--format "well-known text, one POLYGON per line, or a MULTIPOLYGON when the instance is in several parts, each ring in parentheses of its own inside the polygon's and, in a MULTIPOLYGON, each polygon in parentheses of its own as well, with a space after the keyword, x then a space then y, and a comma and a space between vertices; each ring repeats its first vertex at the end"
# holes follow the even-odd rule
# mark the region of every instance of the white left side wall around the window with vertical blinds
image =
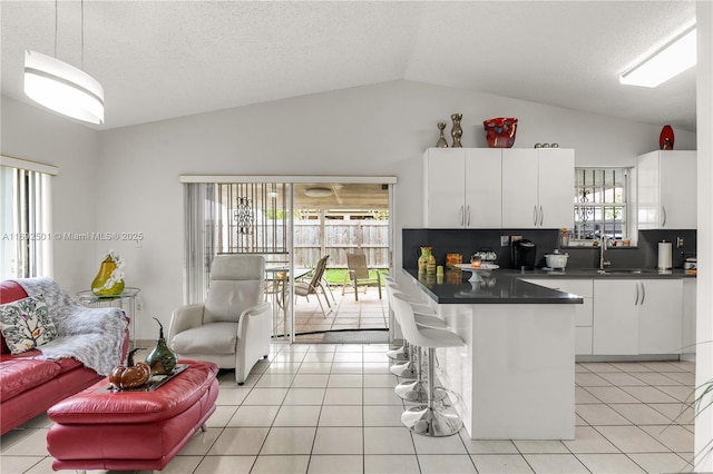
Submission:
MULTIPOLYGON (((96 230, 99 134, 40 108, 2 97, 0 152, 59 167, 52 178, 57 233, 96 230)), ((72 295, 99 269, 92 241, 55 243, 55 279, 72 295)))

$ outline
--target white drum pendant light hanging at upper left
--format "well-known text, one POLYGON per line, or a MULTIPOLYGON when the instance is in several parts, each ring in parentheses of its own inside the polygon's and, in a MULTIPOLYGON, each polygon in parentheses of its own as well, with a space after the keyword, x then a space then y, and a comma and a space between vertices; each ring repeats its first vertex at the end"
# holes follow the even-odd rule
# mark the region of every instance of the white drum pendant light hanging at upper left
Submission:
MULTIPOLYGON (((81 62, 84 67, 84 0, 81 2, 81 62)), ((25 93, 67 117, 104 124, 104 88, 95 78, 57 57, 57 0, 55 0, 55 58, 25 51, 25 93)))

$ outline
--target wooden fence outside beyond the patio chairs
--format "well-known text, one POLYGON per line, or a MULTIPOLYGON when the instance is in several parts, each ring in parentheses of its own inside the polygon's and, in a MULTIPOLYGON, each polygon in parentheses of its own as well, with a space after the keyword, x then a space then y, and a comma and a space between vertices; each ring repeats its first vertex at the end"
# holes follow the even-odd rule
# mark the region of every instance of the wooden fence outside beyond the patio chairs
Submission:
POLYGON ((295 220, 294 264, 313 267, 329 255, 328 268, 346 268, 348 253, 367 254, 370 268, 389 267, 388 220, 295 220))

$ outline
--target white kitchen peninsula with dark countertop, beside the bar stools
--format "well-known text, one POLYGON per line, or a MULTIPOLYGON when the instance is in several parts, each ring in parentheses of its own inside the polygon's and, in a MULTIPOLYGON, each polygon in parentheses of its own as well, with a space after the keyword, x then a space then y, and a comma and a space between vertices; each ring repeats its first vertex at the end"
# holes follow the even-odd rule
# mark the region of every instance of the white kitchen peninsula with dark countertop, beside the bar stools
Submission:
POLYGON ((583 298, 511 271, 403 269, 466 346, 438 349, 438 377, 472 440, 574 440, 575 307, 583 298))

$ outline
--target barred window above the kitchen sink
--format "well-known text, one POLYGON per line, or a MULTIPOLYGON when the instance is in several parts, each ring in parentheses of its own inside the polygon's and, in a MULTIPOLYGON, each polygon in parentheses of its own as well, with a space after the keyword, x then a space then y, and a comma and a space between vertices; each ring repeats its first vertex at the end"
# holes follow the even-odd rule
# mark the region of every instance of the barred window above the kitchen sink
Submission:
POLYGON ((603 236, 629 241, 629 181, 633 168, 575 168, 570 245, 592 245, 603 236))

